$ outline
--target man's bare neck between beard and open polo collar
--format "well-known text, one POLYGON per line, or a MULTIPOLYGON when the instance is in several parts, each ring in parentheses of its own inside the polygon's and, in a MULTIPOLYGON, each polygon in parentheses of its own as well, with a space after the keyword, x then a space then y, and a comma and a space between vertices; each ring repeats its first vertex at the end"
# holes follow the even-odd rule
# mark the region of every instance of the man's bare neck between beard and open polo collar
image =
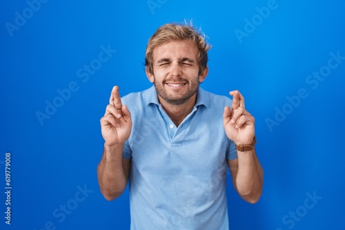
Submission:
POLYGON ((158 98, 161 106, 164 108, 171 121, 176 125, 176 127, 178 127, 179 124, 184 121, 184 118, 186 118, 186 116, 192 112, 197 101, 197 94, 191 96, 188 101, 182 105, 172 105, 164 101, 164 99, 160 96, 158 96, 158 98))

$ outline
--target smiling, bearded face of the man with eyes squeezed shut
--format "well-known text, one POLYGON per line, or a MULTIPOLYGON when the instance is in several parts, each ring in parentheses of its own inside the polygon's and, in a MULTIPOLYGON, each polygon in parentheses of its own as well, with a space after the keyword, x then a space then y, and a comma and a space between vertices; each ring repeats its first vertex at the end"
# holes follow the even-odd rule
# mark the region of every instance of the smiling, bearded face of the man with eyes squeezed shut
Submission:
POLYGON ((195 96, 207 74, 206 67, 199 76, 197 54, 197 45, 188 40, 171 41, 153 50, 153 74, 146 74, 155 83, 160 100, 181 105, 195 96))

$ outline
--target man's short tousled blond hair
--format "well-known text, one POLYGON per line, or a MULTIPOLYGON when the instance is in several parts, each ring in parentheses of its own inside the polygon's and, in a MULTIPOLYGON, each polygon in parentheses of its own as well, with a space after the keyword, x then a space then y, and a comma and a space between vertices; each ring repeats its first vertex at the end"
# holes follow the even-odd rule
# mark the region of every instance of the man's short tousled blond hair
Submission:
POLYGON ((153 50, 159 45, 176 40, 189 40, 197 45, 199 53, 197 55, 197 63, 199 65, 199 75, 204 71, 208 56, 207 52, 212 47, 206 42, 206 35, 201 31, 197 31, 192 22, 185 24, 179 23, 168 23, 162 25, 157 31, 152 34, 148 40, 148 45, 146 46, 145 52, 145 65, 148 67, 148 72, 153 74, 153 50))

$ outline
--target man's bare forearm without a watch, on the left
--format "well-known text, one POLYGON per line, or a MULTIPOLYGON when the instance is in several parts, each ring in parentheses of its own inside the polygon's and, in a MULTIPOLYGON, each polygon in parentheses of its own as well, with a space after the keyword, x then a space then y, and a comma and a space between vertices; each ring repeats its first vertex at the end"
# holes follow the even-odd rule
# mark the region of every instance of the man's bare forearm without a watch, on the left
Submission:
POLYGON ((127 176, 122 164, 124 145, 104 145, 103 156, 97 167, 99 187, 107 200, 119 197, 126 189, 127 176))

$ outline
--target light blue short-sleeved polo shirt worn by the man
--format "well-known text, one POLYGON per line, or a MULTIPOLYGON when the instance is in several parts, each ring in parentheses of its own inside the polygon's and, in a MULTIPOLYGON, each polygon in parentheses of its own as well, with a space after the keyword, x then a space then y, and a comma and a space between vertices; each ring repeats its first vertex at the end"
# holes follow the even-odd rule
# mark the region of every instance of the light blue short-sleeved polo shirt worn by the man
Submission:
POLYGON ((130 167, 130 229, 228 229, 226 160, 237 158, 223 127, 230 98, 199 87, 176 127, 152 86, 121 98, 132 118, 124 147, 130 167))

